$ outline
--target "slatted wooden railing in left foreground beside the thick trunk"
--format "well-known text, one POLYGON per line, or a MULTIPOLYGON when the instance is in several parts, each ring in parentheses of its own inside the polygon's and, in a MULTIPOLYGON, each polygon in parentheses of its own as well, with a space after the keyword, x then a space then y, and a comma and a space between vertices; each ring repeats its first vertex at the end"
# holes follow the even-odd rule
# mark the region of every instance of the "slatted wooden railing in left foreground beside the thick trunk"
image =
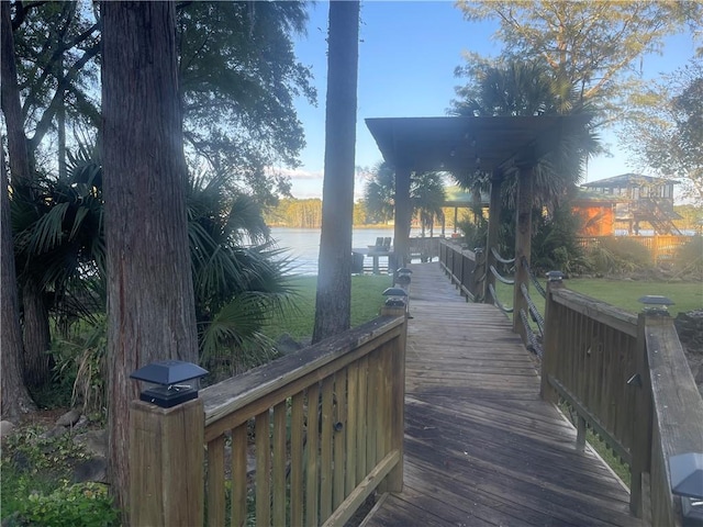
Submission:
POLYGON ((344 525, 376 489, 400 492, 405 339, 405 309, 383 307, 198 400, 134 403, 149 415, 132 430, 131 525, 344 525))

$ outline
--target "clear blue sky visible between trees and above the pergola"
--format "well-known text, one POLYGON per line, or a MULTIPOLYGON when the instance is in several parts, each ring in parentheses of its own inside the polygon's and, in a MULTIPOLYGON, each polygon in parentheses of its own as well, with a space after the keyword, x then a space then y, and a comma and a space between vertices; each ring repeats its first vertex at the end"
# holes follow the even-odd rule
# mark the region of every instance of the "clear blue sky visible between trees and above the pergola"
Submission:
MULTIPOLYGON (((297 100, 298 116, 305 131, 306 146, 301 167, 290 171, 292 194, 299 199, 321 198, 324 169, 324 127, 326 93, 326 51, 328 2, 310 5, 308 35, 297 38, 298 59, 312 67, 317 105, 297 100)), ((358 112, 356 165, 372 168, 382 160, 376 142, 366 127, 366 117, 446 115, 455 87, 466 82, 454 76, 464 64, 462 51, 498 56, 500 41, 492 38, 495 22, 464 20, 454 1, 361 2, 359 27, 358 112)), ((665 42, 663 55, 644 57, 645 76, 670 72, 694 54, 689 35, 673 35, 665 42)), ((613 131, 602 134, 611 156, 589 160, 585 181, 610 178, 636 167, 628 165, 627 153, 617 145, 613 131)), ((358 173, 356 199, 364 192, 365 178, 358 173)))

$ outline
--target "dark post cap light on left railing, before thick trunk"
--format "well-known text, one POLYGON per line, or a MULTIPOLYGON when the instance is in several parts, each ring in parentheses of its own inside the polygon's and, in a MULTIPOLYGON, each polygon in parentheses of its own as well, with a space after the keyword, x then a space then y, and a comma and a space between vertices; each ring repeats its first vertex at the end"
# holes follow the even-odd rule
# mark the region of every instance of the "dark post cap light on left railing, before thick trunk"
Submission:
POLYGON ((148 388, 140 394, 141 401, 155 404, 161 408, 170 408, 198 399, 198 390, 185 383, 207 374, 208 370, 192 362, 163 360, 140 368, 132 372, 130 378, 156 384, 156 386, 148 388))

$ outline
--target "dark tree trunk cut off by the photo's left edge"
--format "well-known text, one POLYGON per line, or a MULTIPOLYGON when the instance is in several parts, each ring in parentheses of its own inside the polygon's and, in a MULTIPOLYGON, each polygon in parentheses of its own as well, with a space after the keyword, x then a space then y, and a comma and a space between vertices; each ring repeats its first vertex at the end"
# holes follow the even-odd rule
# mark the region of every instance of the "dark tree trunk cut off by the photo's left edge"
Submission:
MULTIPOLYGON (((5 2, 3 2, 5 3, 5 2)), ((4 26, 2 27, 4 31, 4 26)), ((4 45, 4 43, 3 43, 4 45)), ((22 334, 20 332, 20 306, 18 305, 14 250, 10 225, 10 200, 4 155, 0 156, 2 188, 0 188, 0 355, 2 367, 2 418, 15 421, 35 410, 22 375, 22 334)))

